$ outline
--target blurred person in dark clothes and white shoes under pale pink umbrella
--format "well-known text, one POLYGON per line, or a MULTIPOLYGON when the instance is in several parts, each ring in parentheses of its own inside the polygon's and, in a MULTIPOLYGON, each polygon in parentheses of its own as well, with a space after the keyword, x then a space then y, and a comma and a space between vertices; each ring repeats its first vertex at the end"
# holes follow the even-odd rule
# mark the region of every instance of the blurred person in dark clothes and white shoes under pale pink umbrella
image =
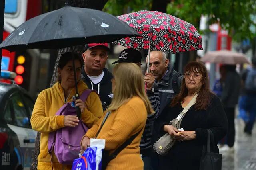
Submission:
POLYGON ((224 110, 228 118, 228 133, 227 133, 227 145, 220 148, 221 152, 234 151, 235 141, 235 107, 238 103, 238 97, 240 92, 241 79, 236 72, 236 65, 225 65, 226 78, 224 81, 223 91, 221 95, 221 101, 224 105, 224 110))

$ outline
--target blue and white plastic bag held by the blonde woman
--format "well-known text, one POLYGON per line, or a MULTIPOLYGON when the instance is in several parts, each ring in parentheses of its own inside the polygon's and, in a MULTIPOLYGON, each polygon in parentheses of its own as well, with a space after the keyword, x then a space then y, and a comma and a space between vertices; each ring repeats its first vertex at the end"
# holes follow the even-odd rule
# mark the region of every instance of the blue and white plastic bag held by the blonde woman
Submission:
POLYGON ((72 170, 101 170, 104 148, 105 139, 90 139, 90 147, 74 160, 72 170))

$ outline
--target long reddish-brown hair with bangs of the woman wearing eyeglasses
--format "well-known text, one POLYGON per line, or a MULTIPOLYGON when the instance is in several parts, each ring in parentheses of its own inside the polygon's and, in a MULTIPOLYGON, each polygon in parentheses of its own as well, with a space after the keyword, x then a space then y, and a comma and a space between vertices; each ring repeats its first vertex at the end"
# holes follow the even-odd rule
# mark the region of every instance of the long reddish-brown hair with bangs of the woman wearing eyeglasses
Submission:
MULTIPOLYGON (((206 110, 210 104, 211 94, 214 94, 210 90, 210 81, 208 72, 204 64, 199 62, 191 62, 185 66, 184 72, 198 72, 202 74, 202 87, 199 90, 198 97, 196 98, 196 104, 194 107, 196 110, 206 110)), ((188 95, 188 88, 185 84, 185 78, 183 78, 180 93, 174 97, 170 106, 176 106, 181 102, 184 102, 184 98, 188 95)))

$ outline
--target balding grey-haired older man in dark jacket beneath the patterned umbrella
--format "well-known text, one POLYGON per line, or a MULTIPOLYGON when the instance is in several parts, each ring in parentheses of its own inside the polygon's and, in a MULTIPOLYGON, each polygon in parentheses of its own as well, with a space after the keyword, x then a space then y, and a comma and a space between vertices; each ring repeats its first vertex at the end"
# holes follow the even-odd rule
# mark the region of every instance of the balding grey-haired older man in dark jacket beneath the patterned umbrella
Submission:
MULTIPOLYGON (((148 57, 146 59, 148 63, 148 57)), ((158 91, 160 96, 160 111, 159 115, 166 106, 171 103, 174 95, 180 92, 183 75, 173 70, 169 60, 166 58, 166 54, 161 51, 151 51, 149 59, 150 73, 155 77, 158 84, 158 91)), ((171 120, 170 120, 171 121, 171 120)), ((156 142, 160 135, 155 130, 154 126, 158 123, 158 118, 155 119, 152 128, 152 145, 156 142)), ((152 169, 158 170, 159 160, 158 154, 154 153, 152 156, 152 169)))

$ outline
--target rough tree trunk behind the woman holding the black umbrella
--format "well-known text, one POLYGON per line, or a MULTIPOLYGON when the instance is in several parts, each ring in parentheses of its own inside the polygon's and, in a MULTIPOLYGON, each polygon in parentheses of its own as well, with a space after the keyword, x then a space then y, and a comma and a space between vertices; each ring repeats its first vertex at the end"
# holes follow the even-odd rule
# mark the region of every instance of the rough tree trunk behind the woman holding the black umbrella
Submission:
MULTIPOLYGON (((105 4, 108 2, 108 0, 67 0, 67 1, 70 6, 75 6, 80 8, 91 8, 96 10, 102 10, 105 4)), ((74 47, 73 52, 77 53, 79 56, 82 57, 83 50, 84 50, 84 46, 78 45, 74 47)), ((70 47, 58 50, 58 56, 55 62, 54 72, 52 75, 50 87, 52 87, 58 81, 57 68, 58 68, 60 56, 67 51, 70 51, 70 47)), ((32 165, 30 167, 30 170, 37 170, 37 164, 38 164, 37 158, 38 158, 39 152, 40 152, 40 132, 37 133, 34 154, 32 156, 32 165)))

